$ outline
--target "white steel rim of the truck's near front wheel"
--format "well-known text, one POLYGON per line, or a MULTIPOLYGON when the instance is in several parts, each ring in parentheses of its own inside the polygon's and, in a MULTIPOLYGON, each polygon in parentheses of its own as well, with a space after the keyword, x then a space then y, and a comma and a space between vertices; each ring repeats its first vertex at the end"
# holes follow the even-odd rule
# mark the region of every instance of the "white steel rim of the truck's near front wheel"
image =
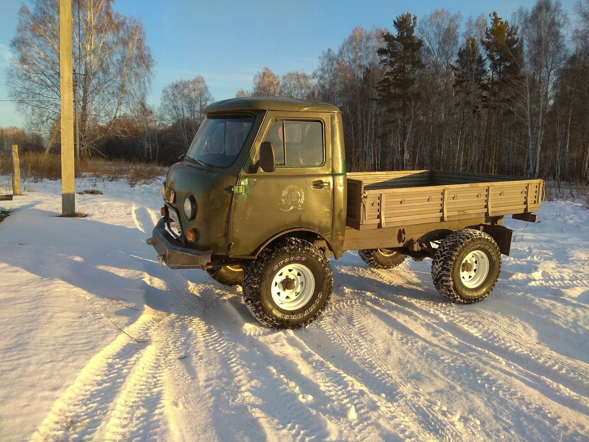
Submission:
POLYGON ((313 273, 300 263, 276 272, 272 279, 272 299, 283 310, 293 311, 307 304, 315 292, 313 273))

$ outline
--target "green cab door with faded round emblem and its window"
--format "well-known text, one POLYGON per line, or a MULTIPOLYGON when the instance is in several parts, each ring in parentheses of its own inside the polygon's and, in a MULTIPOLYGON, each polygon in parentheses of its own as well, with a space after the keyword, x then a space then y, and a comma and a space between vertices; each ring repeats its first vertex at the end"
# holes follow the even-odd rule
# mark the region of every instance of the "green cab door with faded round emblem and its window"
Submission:
POLYGON ((267 240, 288 230, 310 230, 331 240, 329 123, 329 113, 267 113, 234 194, 231 256, 250 256, 267 240), (273 143, 277 163, 273 173, 256 167, 262 141, 273 143))

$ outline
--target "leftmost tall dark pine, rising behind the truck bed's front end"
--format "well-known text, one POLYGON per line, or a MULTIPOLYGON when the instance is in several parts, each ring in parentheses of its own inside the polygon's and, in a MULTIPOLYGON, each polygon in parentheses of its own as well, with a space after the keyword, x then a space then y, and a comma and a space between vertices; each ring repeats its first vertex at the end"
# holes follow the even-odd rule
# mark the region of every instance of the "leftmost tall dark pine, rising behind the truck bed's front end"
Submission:
POLYGON ((402 166, 405 167, 409 160, 412 115, 419 102, 415 84, 425 64, 420 54, 423 41, 415 35, 417 17, 406 12, 399 15, 393 25, 396 34, 383 32, 386 46, 378 50, 380 64, 385 68, 385 76, 378 85, 378 98, 389 123, 398 120, 401 126, 402 166))

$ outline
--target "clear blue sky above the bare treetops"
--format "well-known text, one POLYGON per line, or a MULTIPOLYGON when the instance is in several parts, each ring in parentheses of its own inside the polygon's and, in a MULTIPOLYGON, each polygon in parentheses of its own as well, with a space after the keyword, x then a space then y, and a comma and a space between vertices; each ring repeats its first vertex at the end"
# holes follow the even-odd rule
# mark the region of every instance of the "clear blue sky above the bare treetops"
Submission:
MULTIPOLYGON (((562 0, 571 9, 577 0, 562 0)), ((27 4, 29 2, 26 2, 27 4)), ((251 89, 252 77, 268 66, 277 74, 313 72, 323 50, 337 49, 355 26, 392 28, 402 12, 418 16, 436 8, 461 12, 463 19, 497 11, 510 18, 533 0, 117 0, 115 11, 143 21, 156 62, 149 101, 159 102, 161 90, 180 78, 203 75, 216 100, 251 89)), ((9 43, 14 37, 22 2, 0 0, 0 100, 6 94, 9 43)), ((571 19, 573 14, 571 11, 571 19)), ((12 103, 0 101, 0 127, 24 120, 12 103)))

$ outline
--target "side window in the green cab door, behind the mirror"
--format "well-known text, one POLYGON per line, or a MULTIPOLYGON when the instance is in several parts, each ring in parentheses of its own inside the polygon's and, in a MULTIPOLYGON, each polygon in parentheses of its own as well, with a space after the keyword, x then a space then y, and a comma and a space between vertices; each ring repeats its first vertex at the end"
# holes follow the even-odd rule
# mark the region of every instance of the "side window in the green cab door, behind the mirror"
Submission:
POLYGON ((323 164, 323 126, 319 121, 274 121, 264 141, 274 144, 277 164, 286 167, 323 164))

